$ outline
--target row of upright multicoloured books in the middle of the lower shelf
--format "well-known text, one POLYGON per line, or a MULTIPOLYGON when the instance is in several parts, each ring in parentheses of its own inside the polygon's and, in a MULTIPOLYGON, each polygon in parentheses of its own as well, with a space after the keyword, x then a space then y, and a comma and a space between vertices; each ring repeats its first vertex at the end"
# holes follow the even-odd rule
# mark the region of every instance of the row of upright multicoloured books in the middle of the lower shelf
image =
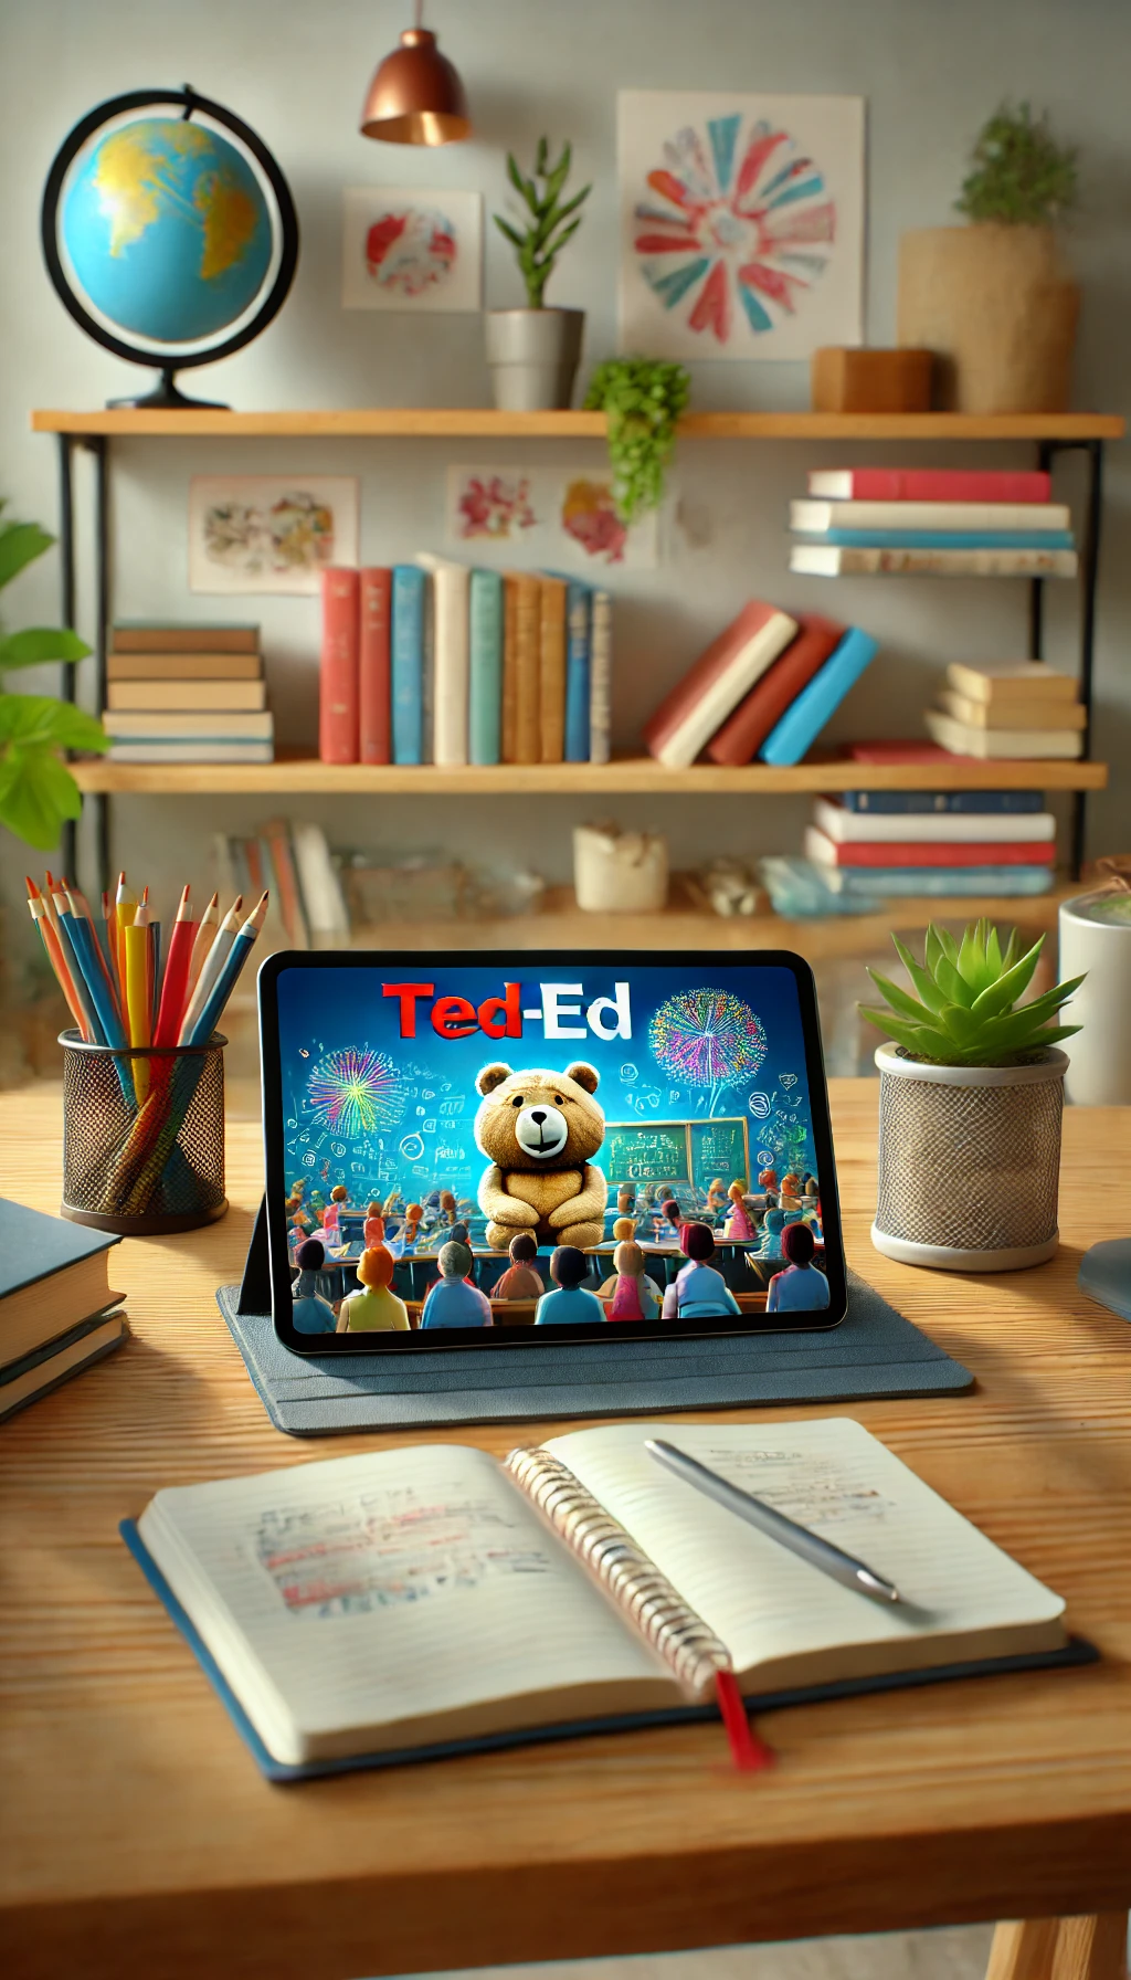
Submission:
POLYGON ((608 762, 612 606, 438 556, 323 574, 323 762, 608 762))

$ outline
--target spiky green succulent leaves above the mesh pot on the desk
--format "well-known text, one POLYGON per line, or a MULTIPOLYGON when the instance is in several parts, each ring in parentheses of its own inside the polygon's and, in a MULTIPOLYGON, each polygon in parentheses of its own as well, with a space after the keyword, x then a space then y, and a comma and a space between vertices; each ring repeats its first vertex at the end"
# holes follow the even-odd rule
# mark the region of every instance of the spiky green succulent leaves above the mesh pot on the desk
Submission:
POLYGON ((1078 1024, 1058 1024, 1056 1016, 1083 976, 1056 984, 1018 1010, 1018 998, 1028 990, 1044 948, 1044 935, 1022 956, 1016 929, 1002 952, 998 931, 988 921, 969 923, 961 942, 931 923, 923 962, 915 960, 897 935, 891 940, 919 996, 909 996, 887 976, 868 970, 891 1008, 870 1010, 862 1004, 860 1016, 887 1032, 913 1059, 927 1059, 931 1065, 1016 1065, 1080 1032, 1078 1024))

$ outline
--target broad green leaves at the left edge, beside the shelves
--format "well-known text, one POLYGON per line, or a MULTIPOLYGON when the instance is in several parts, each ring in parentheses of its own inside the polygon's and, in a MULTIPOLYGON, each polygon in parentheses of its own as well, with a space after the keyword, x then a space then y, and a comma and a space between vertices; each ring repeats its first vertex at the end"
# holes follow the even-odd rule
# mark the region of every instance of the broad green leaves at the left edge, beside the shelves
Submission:
MULTIPOLYGON (((4 503, 0 503, 0 509, 4 503)), ((44 550, 53 537, 38 523, 0 523, 0 590, 44 550)), ((18 667, 48 659, 85 659, 89 645, 59 626, 30 626, 0 636, 0 681, 18 667)), ((0 826, 18 840, 50 851, 59 843, 63 820, 83 808, 79 786, 61 752, 105 750, 101 723, 53 695, 10 695, 0 687, 0 826)))

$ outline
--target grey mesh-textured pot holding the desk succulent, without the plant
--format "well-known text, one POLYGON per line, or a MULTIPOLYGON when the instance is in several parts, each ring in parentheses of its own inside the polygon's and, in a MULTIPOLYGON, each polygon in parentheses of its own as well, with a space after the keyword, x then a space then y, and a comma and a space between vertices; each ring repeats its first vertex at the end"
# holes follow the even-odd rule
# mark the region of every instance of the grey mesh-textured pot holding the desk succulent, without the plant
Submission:
POLYGON ((879 1045, 875 1063, 875 1249, 941 1271, 1044 1265, 1060 1243, 1064 1051, 1032 1065, 923 1065, 879 1045))

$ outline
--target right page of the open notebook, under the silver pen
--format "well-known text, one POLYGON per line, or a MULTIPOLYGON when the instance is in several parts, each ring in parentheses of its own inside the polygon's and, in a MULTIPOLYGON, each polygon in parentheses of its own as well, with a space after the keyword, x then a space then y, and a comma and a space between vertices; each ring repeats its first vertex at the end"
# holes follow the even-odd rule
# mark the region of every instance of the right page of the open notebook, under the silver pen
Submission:
MULTIPOLYGON (((570 1465, 729 1645, 739 1671, 808 1659, 822 1675, 1056 1647, 1064 1602, 1002 1554, 852 1418, 616 1424, 545 1445, 570 1465), (891 1580, 879 1604, 790 1554, 644 1449, 664 1437, 891 1580), (1044 1626, 1048 1643, 1012 1641, 1044 1626), (852 1647, 860 1655, 852 1653, 852 1647), (848 1653, 846 1653, 848 1651, 848 1653)), ((812 1669, 798 1677, 818 1681, 812 1669)))

